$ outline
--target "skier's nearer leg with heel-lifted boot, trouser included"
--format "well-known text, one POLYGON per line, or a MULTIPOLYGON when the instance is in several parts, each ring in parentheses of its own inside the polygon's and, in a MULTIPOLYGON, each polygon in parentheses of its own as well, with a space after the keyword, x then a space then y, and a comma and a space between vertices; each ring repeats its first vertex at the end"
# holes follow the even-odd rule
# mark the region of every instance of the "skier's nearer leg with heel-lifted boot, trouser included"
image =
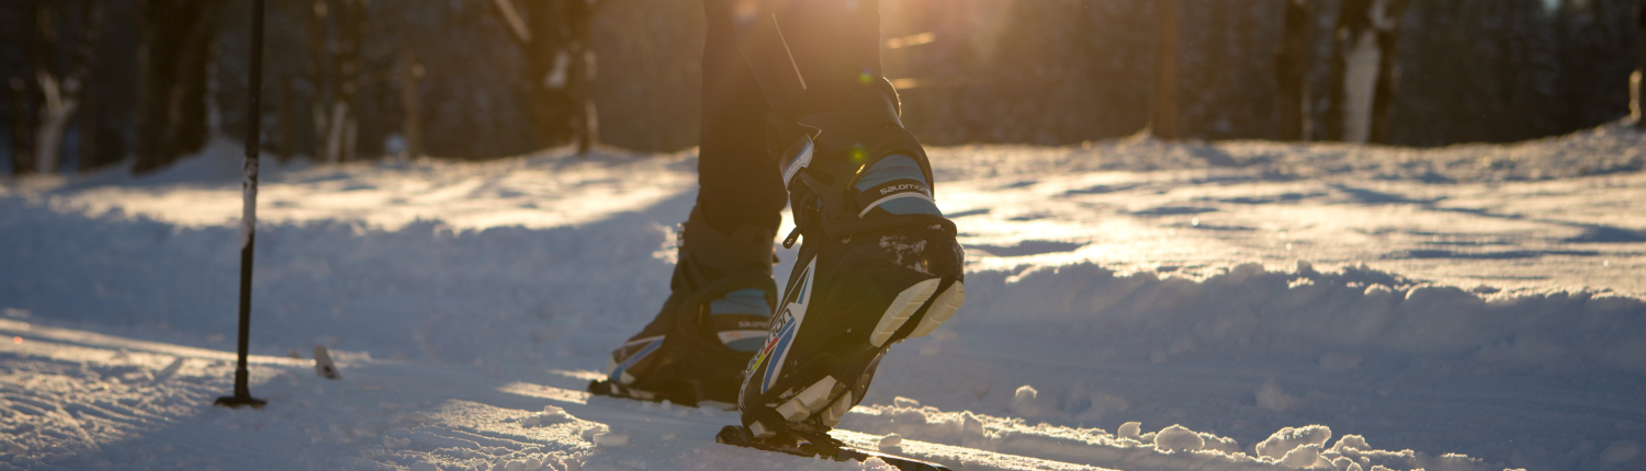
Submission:
POLYGON ((892 343, 930 333, 965 302, 955 225, 881 77, 877 8, 709 2, 709 21, 732 25, 772 108, 774 164, 805 236, 739 394, 757 438, 826 437, 818 433, 863 400, 892 343))

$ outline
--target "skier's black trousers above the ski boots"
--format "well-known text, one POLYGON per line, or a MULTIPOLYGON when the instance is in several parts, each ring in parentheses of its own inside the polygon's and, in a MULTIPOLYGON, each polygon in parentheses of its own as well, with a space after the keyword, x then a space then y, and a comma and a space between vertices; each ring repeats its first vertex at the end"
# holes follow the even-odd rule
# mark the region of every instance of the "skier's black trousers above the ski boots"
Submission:
POLYGON ((731 233, 777 230, 787 192, 767 154, 767 115, 790 121, 846 107, 881 75, 877 0, 704 0, 698 205, 731 233))

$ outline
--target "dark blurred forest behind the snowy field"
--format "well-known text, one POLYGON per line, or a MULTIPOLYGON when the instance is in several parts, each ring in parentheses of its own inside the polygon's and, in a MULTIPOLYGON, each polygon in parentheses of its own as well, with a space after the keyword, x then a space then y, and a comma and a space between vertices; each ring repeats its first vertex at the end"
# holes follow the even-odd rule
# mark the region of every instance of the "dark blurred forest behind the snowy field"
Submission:
MULTIPOLYGON (((0 164, 166 167, 244 135, 249 2, 0 2, 0 164)), ((1504 143, 1620 120, 1639 0, 882 0, 928 144, 1504 143)), ((696 0, 272 0, 262 148, 486 159, 696 144, 696 0)), ((1638 84, 1638 74, 1634 75, 1638 84)))

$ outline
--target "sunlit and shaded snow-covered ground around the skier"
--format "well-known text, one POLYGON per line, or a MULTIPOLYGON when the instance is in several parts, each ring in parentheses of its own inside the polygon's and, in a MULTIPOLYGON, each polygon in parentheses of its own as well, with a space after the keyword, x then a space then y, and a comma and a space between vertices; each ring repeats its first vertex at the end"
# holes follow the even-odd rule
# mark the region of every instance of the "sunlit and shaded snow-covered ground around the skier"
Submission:
MULTIPOLYGON (((1621 123, 933 161, 968 304, 894 348, 843 440, 956 469, 1646 469, 1646 136, 1621 123)), ((667 297, 690 153, 265 162, 270 405, 211 407, 239 169, 221 141, 146 177, 0 182, 0 469, 879 466, 581 392, 667 297)))

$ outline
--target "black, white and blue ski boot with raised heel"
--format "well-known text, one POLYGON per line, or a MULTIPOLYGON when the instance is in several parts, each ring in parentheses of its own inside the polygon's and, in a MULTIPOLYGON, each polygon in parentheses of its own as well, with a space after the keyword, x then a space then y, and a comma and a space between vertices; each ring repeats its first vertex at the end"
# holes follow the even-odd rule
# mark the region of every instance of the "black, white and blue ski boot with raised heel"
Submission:
POLYGON ((966 299, 955 223, 890 94, 866 87, 843 112, 772 118, 797 226, 783 246, 805 243, 737 397, 757 441, 826 433, 892 343, 932 333, 966 299))

